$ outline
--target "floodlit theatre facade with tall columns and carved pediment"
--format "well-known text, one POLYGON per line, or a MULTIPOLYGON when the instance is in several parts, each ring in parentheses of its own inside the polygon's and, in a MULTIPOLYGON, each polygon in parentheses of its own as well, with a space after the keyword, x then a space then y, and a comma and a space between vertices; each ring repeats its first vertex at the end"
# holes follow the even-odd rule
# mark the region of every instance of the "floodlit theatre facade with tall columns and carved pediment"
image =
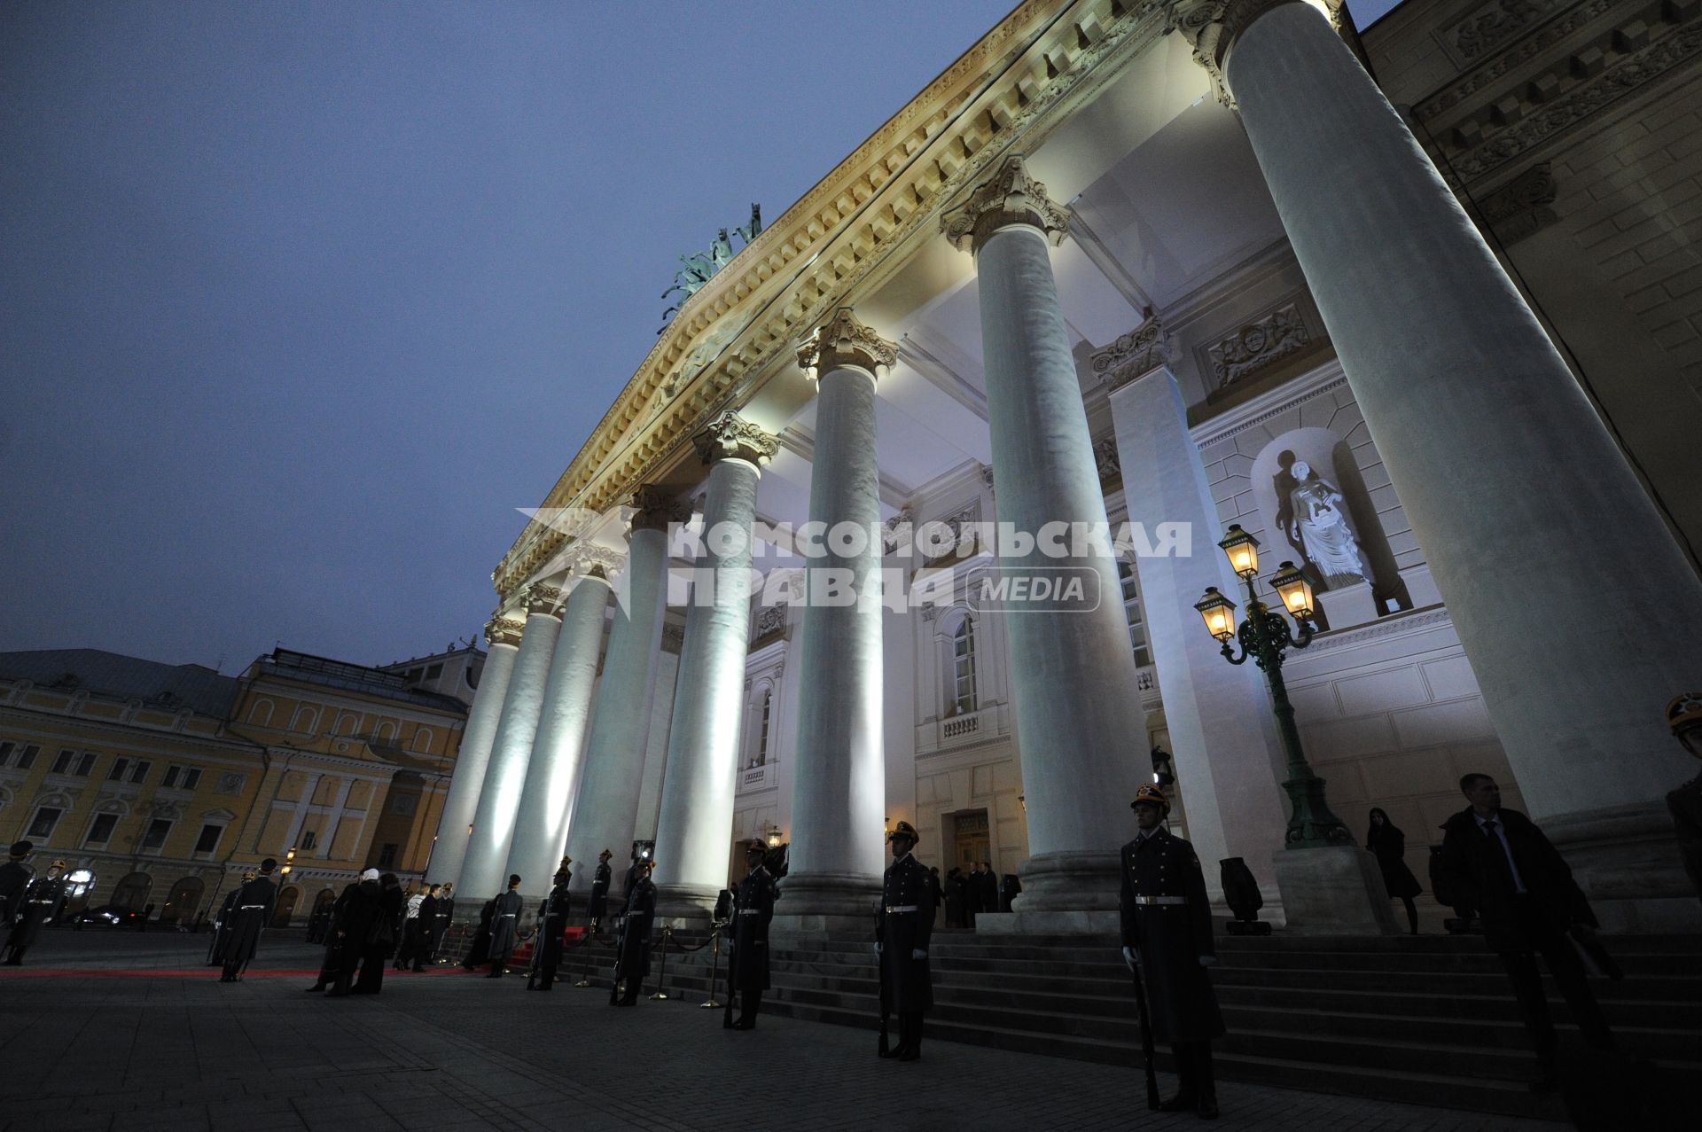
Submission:
POLYGON ((1702 172, 1697 5, 1637 7, 1413 0, 1362 39, 1322 2, 1021 3, 683 305, 502 557, 434 878, 541 894, 565 853, 584 890, 611 849, 620 892, 654 841, 693 916, 764 838, 831 926, 907 820, 1019 875, 982 929, 1094 931, 1161 775, 1214 890, 1242 858, 1282 919, 1324 883, 1285 875, 1288 751, 1195 611, 1246 606, 1239 524, 1263 599, 1312 586, 1282 674, 1356 839, 1380 805, 1425 877, 1486 771, 1608 924, 1692 923, 1695 303, 1624 298, 1648 226, 1578 235, 1695 214, 1636 162, 1702 172), (808 523, 871 536, 776 535, 808 523), (989 601, 1026 569, 997 529, 1048 523, 1110 533, 1052 560, 1096 601, 989 601), (815 601, 829 569, 887 594, 815 601))

